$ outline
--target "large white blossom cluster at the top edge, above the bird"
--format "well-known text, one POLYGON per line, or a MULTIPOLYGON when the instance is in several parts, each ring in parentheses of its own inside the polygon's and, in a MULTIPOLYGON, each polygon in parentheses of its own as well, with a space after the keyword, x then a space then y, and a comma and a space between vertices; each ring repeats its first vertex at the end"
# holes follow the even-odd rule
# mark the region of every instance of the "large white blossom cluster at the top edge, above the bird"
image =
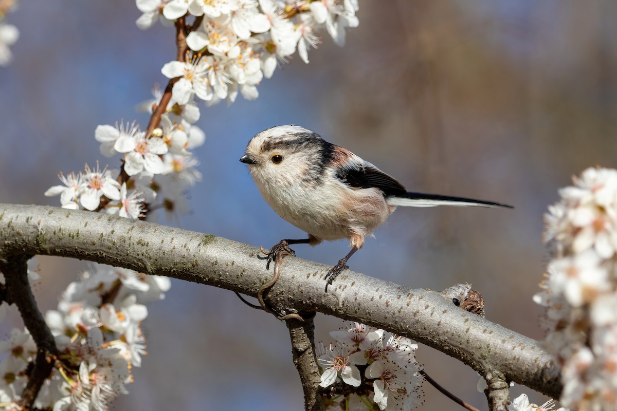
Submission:
POLYGON ((309 49, 321 43, 326 30, 334 41, 345 42, 345 29, 358 25, 357 0, 136 0, 143 15, 136 24, 146 29, 162 20, 193 15, 199 26, 186 37, 192 52, 184 62, 164 65, 168 78, 180 78, 173 98, 186 104, 194 97, 215 103, 259 96, 257 85, 270 78, 279 62, 296 50, 309 63, 309 49))

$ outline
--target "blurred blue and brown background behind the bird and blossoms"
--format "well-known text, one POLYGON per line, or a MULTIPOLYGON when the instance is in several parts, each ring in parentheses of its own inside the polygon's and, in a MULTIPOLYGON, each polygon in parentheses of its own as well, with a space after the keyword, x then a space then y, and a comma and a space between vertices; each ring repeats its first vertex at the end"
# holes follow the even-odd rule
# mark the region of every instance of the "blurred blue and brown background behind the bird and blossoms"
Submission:
MULTIPOLYGON (((147 124, 135 112, 175 56, 173 29, 135 26, 130 2, 29 2, 14 62, 0 68, 0 201, 59 205, 43 192, 59 171, 99 154, 97 124, 147 124)), ((588 166, 616 166, 617 2, 360 1, 347 45, 331 39, 259 87, 259 99, 202 108, 196 150, 204 181, 180 227, 268 247, 304 234, 268 208, 239 163, 254 134, 300 124, 352 150, 414 191, 501 201, 515 210, 402 209, 350 266, 383 280, 442 290, 470 282, 487 318, 541 339, 531 301, 547 262, 542 213, 588 166)), ((165 219, 160 219, 165 223, 165 219)), ((167 224, 176 224, 168 221, 167 224)), ((347 242, 296 246, 334 264, 347 242)), ((86 264, 39 257, 43 309, 86 264)), ((144 324, 148 352, 116 410, 300 410, 289 336, 228 291, 172 282, 144 324)), ((340 320, 318 315, 317 340, 340 320)), ((2 334, 19 326, 16 315, 2 334)), ((473 370, 421 346, 419 361, 453 393, 486 409, 473 370)), ((542 404, 539 394, 516 387, 542 404)), ((426 409, 457 410, 431 386, 426 409)))

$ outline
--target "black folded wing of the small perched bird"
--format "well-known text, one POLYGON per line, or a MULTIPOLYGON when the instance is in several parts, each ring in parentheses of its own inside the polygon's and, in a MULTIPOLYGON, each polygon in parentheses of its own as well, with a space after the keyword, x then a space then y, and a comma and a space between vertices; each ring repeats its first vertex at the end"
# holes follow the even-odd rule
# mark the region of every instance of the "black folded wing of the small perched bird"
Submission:
POLYGON ((371 163, 363 165, 342 166, 335 176, 349 187, 370 189, 375 187, 384 193, 384 197, 405 194, 406 190, 394 177, 389 176, 371 163))

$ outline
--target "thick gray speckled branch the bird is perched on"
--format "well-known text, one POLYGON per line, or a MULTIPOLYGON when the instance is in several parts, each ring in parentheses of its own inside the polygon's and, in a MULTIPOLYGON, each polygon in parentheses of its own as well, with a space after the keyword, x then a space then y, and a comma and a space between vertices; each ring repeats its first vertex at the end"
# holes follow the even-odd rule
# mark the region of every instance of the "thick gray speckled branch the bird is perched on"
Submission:
MULTIPOLYGON (((253 246, 143 221, 46 206, 0 205, 0 259, 45 254, 104 262, 256 296, 271 272, 253 246)), ((559 368, 540 343, 454 306, 442 293, 344 271, 323 292, 330 267, 288 257, 268 293, 279 312, 319 311, 363 322, 455 357, 487 375, 547 396, 561 392, 559 368)))

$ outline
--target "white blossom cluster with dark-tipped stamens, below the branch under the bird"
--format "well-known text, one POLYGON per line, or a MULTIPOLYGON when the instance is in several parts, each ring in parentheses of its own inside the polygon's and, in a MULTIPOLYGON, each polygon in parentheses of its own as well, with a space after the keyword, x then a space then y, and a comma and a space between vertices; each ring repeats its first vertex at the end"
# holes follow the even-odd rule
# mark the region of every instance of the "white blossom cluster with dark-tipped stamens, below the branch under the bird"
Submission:
POLYGON ((349 324, 331 332, 334 343, 321 346, 320 386, 337 381, 355 387, 354 394, 328 407, 345 410, 411 410, 421 404, 418 344, 408 338, 364 324, 349 324))

